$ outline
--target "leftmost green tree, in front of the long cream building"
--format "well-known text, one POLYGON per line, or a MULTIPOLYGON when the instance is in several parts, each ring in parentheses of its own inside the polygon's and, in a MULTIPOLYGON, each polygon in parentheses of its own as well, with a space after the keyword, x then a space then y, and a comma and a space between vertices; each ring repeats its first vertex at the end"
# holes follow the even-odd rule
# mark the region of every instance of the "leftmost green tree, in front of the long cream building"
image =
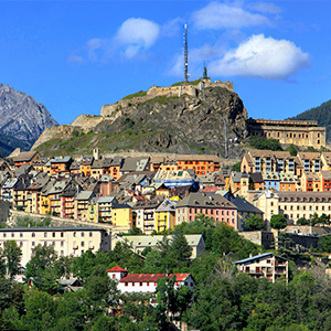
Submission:
POLYGON ((7 274, 9 275, 9 279, 12 281, 14 276, 20 271, 22 259, 22 250, 15 241, 7 241, 3 244, 3 256, 6 258, 7 274))

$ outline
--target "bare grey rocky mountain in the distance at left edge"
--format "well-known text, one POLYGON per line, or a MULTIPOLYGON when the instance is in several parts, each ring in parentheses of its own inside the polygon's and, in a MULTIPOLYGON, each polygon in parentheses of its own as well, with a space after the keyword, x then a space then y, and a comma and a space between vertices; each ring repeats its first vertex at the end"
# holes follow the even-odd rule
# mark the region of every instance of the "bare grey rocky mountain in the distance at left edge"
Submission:
POLYGON ((57 126, 44 105, 25 93, 0 83, 0 150, 29 150, 46 127, 57 126), (18 139, 11 139, 11 137, 18 139))

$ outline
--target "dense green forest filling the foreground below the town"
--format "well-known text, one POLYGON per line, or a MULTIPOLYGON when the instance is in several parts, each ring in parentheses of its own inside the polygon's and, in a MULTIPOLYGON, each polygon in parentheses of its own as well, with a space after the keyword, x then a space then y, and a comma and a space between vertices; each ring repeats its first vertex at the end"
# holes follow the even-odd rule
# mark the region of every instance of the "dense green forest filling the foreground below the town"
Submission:
MULTIPOLYGON (((129 243, 79 257, 57 256, 53 246, 39 245, 26 265, 25 285, 12 281, 21 252, 15 242, 6 242, 0 258, 1 330, 170 330, 172 319, 202 331, 331 329, 331 281, 323 269, 309 261, 298 268, 293 260, 300 254, 281 235, 277 254, 290 259, 288 282, 239 274, 233 261, 265 250, 211 221, 202 216, 177 226, 156 249, 142 252, 145 259, 129 243), (206 252, 191 260, 184 234, 202 234, 206 252), (116 265, 129 273, 191 273, 194 293, 186 287, 174 289, 169 278, 158 282, 156 293, 120 293, 106 273, 116 265), (84 288, 62 292, 56 279, 71 275, 84 288)), ((322 244, 321 249, 330 246, 322 244)))

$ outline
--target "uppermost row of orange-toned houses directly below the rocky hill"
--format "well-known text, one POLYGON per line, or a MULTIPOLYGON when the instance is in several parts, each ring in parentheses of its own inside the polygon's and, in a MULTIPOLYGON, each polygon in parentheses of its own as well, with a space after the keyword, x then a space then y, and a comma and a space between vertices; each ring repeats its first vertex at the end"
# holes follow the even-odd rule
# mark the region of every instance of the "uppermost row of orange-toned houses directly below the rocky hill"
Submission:
POLYGON ((98 148, 93 156, 78 158, 55 157, 42 158, 38 151, 21 152, 13 158, 12 164, 18 169, 21 166, 33 166, 36 170, 49 174, 77 174, 98 178, 109 174, 118 180, 121 174, 132 171, 183 171, 193 170, 197 177, 221 170, 221 160, 216 156, 207 154, 177 154, 168 157, 139 158, 104 158, 98 148))

